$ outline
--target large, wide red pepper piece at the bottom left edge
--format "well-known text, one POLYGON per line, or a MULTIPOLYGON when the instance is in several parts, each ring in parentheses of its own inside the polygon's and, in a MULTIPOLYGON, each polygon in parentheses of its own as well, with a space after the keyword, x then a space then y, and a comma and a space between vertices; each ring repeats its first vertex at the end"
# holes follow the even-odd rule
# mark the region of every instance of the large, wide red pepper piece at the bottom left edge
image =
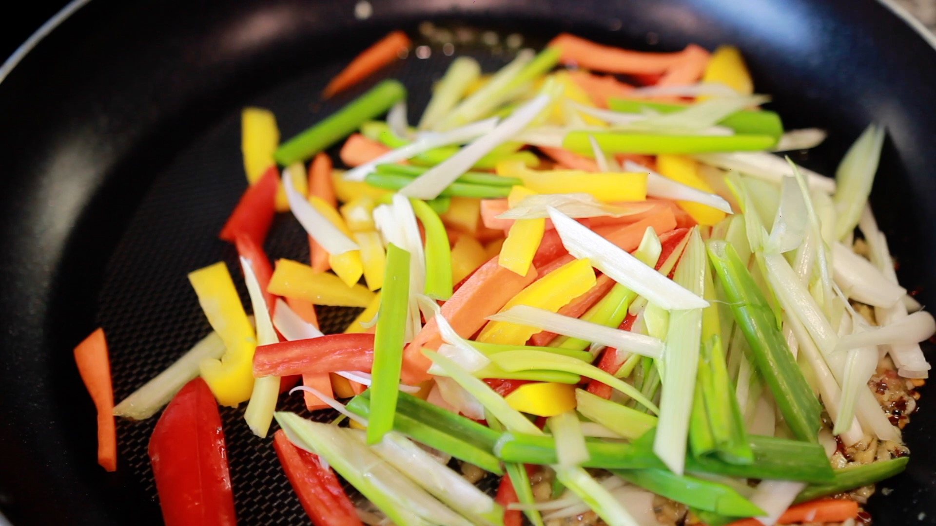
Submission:
POLYGON ((201 378, 169 402, 150 437, 150 462, 167 526, 236 524, 218 403, 201 378))

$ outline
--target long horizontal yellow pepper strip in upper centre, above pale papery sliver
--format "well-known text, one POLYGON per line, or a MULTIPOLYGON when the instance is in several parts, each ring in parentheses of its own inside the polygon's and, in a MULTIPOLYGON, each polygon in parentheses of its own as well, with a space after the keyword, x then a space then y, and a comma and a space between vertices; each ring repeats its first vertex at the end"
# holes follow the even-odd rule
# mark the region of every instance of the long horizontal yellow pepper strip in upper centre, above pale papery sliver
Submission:
POLYGON ((517 177, 539 194, 587 192, 596 199, 642 201, 647 198, 647 174, 637 172, 587 172, 578 169, 532 170, 519 163, 499 163, 497 174, 517 177))

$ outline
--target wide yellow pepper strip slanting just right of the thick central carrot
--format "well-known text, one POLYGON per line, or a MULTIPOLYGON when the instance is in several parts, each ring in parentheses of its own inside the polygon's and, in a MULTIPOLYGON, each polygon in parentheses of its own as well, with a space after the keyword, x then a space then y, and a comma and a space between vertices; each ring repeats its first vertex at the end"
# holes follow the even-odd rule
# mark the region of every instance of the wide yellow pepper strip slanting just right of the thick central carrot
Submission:
MULTIPOLYGON (((566 303, 585 294, 594 285, 594 270, 588 258, 576 259, 527 286, 501 309, 501 312, 514 305, 530 305, 553 313, 566 303)), ((490 321, 484 326, 478 341, 483 343, 505 343, 522 345, 540 329, 518 325, 506 321, 490 321)))

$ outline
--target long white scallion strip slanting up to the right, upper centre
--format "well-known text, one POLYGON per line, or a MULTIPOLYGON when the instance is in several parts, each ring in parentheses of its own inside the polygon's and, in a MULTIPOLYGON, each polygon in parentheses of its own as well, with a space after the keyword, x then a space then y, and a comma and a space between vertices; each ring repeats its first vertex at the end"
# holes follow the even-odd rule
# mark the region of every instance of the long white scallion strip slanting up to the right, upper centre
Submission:
POLYGON ((439 193, 446 189, 446 186, 468 171, 481 157, 490 153, 498 145, 513 139, 520 130, 532 123, 540 111, 548 106, 549 100, 548 95, 535 96, 533 100, 514 110, 509 117, 497 124, 497 127, 489 133, 475 139, 462 148, 459 153, 455 153, 442 163, 426 170, 412 183, 403 186, 400 189, 400 194, 419 199, 438 197, 439 193))

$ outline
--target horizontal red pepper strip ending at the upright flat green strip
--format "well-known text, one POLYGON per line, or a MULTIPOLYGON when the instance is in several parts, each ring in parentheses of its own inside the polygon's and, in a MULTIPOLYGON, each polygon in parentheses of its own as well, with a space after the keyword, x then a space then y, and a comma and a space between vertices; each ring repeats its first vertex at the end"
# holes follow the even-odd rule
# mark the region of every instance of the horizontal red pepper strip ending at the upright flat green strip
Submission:
POLYGON ((328 334, 308 340, 259 345, 254 353, 254 376, 288 376, 335 371, 371 372, 373 334, 328 334))

